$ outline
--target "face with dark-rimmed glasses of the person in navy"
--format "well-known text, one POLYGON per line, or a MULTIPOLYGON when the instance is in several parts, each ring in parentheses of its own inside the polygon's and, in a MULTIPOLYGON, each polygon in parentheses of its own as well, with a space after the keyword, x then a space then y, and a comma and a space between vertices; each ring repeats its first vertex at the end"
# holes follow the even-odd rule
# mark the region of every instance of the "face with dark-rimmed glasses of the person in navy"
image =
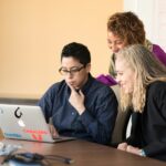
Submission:
POLYGON ((62 58, 61 70, 66 84, 74 89, 81 89, 87 81, 91 64, 84 66, 76 59, 69 56, 62 58))

